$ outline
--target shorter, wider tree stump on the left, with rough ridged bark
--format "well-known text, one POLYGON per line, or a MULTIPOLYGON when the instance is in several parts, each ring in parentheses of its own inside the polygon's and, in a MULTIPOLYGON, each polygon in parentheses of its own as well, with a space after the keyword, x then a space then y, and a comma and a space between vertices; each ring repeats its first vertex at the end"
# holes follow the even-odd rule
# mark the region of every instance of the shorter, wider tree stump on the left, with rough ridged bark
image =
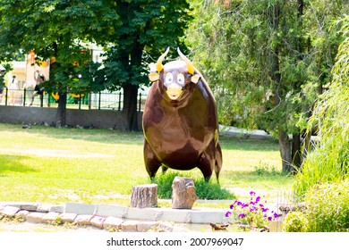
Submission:
POLYGON ((131 207, 145 208, 157 206, 157 184, 132 187, 131 207))

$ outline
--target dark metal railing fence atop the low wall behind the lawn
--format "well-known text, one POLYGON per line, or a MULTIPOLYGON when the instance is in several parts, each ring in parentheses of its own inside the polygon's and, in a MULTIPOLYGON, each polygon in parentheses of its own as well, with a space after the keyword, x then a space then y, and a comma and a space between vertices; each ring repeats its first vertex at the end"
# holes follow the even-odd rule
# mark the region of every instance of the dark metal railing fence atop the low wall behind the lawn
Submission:
MULTIPOLYGON (((36 93, 33 88, 10 89, 4 87, 0 89, 0 105, 17 105, 17 106, 37 106, 56 108, 58 106, 55 94, 44 92, 44 95, 34 96, 36 93)), ((138 93, 137 110, 143 111, 147 95, 138 93)), ((67 109, 83 109, 83 110, 123 110, 123 92, 122 91, 101 91, 98 93, 88 93, 74 95, 68 93, 66 101, 67 109)))

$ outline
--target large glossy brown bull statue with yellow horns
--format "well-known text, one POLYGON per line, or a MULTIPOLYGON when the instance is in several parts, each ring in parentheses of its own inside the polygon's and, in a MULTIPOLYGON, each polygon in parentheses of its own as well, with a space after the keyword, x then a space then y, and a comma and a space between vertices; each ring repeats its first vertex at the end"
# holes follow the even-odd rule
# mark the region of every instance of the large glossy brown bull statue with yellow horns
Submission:
POLYGON ((191 61, 162 64, 169 47, 151 72, 152 86, 143 112, 144 162, 150 179, 157 170, 189 171, 198 167, 209 180, 222 168, 217 106, 208 83, 191 61))

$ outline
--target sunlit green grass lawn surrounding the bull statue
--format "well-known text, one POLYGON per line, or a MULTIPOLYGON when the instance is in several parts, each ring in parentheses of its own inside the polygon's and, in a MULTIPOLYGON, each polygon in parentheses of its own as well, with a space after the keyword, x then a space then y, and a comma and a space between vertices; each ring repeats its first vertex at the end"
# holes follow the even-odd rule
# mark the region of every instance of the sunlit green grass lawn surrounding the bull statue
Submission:
MULTIPOLYGON (((290 190, 294 179, 280 174, 276 142, 220 142, 222 188, 239 199, 254 190, 268 201, 290 190)), ((0 124, 0 201, 129 204, 132 186, 150 182, 142 148, 141 132, 0 124)), ((202 177, 198 169, 181 174, 202 177)))

